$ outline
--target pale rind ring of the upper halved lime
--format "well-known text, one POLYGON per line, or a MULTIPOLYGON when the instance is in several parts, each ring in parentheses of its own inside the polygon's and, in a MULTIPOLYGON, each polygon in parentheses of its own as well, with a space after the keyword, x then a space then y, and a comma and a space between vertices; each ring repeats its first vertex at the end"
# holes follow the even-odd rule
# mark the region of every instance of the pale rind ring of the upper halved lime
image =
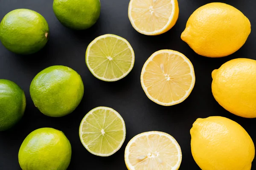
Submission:
MULTIPOLYGON (((108 59, 107 56, 104 56, 104 57, 106 57, 106 59, 108 59)), ((132 68, 133 68, 133 66, 134 66, 134 60, 135 60, 134 50, 133 50, 133 48, 131 47, 130 43, 129 43, 127 40, 125 40, 124 38, 119 37, 119 36, 114 35, 114 34, 105 34, 105 35, 99 36, 99 37, 97 37, 96 39, 94 39, 94 40, 88 45, 87 50, 86 50, 86 54, 85 54, 85 62, 86 62, 86 65, 87 65, 88 69, 90 70, 90 72, 93 74, 94 77, 96 77, 96 78, 98 78, 98 79, 100 79, 100 80, 106 81, 106 82, 114 82, 114 81, 117 81, 117 80, 122 79, 122 78, 124 78, 125 76, 127 76, 127 75, 131 72, 131 70, 132 70, 132 68), (121 40, 122 42, 125 42, 125 44, 127 45, 127 47, 128 47, 128 48, 130 49, 130 51, 131 51, 131 65, 130 65, 128 71, 123 72, 122 76, 120 76, 120 77, 115 77, 115 78, 112 78, 112 79, 108 79, 108 78, 99 76, 98 74, 96 74, 96 73, 93 71, 93 68, 91 68, 90 65, 89 65, 89 56, 90 56, 90 48, 91 48, 91 46, 94 45, 94 44, 96 44, 96 42, 97 42, 98 40, 105 39, 105 38, 107 38, 107 37, 113 37, 113 38, 116 38, 117 40, 121 40)), ((119 68, 118 65, 116 65, 116 66, 119 68)), ((107 65, 107 67, 108 67, 108 65, 107 65)), ((107 69, 107 68, 106 68, 106 69, 107 69)), ((112 69, 113 69, 113 66, 112 66, 112 69)), ((114 72, 114 71, 113 71, 113 72, 114 72)))

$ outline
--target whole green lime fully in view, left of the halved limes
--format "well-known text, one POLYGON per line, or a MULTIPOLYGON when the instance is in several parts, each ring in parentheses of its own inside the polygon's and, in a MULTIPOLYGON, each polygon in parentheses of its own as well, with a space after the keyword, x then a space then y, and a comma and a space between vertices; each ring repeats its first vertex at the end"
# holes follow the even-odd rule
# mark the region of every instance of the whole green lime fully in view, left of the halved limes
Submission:
POLYGON ((30 85, 30 96, 42 113, 61 117, 73 112, 84 95, 84 84, 73 69, 55 65, 38 73, 30 85))

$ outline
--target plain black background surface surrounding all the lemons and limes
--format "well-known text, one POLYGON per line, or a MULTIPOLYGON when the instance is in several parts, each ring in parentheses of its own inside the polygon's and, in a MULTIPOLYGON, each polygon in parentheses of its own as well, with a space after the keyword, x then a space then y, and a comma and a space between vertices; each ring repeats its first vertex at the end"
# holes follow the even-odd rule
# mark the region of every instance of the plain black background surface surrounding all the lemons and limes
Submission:
MULTIPOLYGON (((0 19, 9 11, 28 8, 42 14, 50 28, 47 45, 38 53, 20 56, 0 44, 0 79, 16 82, 26 94, 27 106, 21 121, 12 129, 0 132, 0 170, 20 170, 18 151, 25 137, 35 129, 53 127, 65 133, 72 145, 72 159, 68 170, 126 170, 124 150, 128 141, 138 133, 158 130, 171 134, 180 144, 183 158, 180 170, 200 170, 192 158, 189 130, 197 118, 225 116, 238 122, 256 142, 256 120, 235 116, 222 108, 212 96, 211 72, 234 58, 256 59, 256 1, 219 0, 230 4, 247 16, 252 32, 244 46, 224 58, 197 55, 180 39, 186 21, 195 9, 216 0, 178 0, 180 14, 176 25, 155 37, 138 33, 128 20, 129 0, 101 0, 98 22, 84 31, 73 31, 58 22, 52 11, 52 0, 0 0, 0 19), (117 82, 104 82, 93 77, 85 64, 87 45, 102 34, 116 34, 127 39, 135 52, 135 64, 127 77, 117 82), (188 57, 195 69, 195 87, 182 103, 164 107, 151 102, 140 85, 144 62, 155 51, 172 49, 188 57), (35 108, 29 95, 29 85, 35 75, 51 65, 66 65, 76 70, 84 82, 84 97, 70 115, 61 118, 44 116, 35 108), (126 139, 113 156, 99 157, 89 153, 79 139, 79 124, 84 115, 97 106, 118 111, 126 124, 126 139)), ((256 170, 253 161, 252 170, 256 170)))

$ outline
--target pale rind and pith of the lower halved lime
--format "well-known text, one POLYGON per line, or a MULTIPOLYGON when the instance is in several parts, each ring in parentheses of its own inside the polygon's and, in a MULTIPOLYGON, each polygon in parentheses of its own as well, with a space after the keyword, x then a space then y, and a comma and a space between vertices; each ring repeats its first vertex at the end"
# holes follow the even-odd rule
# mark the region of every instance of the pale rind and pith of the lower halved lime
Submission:
MULTIPOLYGON (((96 120, 96 122, 98 123, 97 120, 96 120)), ((113 120, 113 122, 114 122, 114 120, 113 120)), ((110 124, 108 124, 107 127, 109 127, 113 122, 111 122, 110 124)), ((98 125, 99 125, 99 124, 98 124, 98 125)), ((105 125, 105 119, 104 119, 104 125, 105 125)), ((95 128, 97 128, 97 127, 95 127, 95 128)), ((99 130, 99 128, 98 128, 98 130, 99 130)), ((119 131, 119 130, 114 130, 114 131, 119 131)), ((120 131, 121 131, 121 130, 120 130, 120 131)), ((107 131, 106 131, 106 132, 107 132, 107 131)), ((90 133, 90 132, 89 132, 89 133, 90 133)), ((98 132, 94 132, 94 133, 98 133, 98 134, 99 134, 96 138, 99 138, 99 136, 103 136, 102 133, 101 133, 101 130, 99 130, 98 132)), ((93 155, 96 155, 96 156, 103 156, 103 157, 105 157, 105 156, 111 156, 111 155, 113 155, 114 153, 116 153, 116 152, 122 147, 122 144, 123 144, 124 141, 125 141, 125 136, 126 136, 126 128, 125 128, 125 122, 124 122, 122 116, 121 116, 117 111, 113 110, 112 108, 108 108, 108 107, 100 106, 100 107, 97 107, 97 108, 92 109, 91 111, 89 111, 89 112, 84 116, 84 118, 82 119, 81 124, 80 124, 80 126, 79 126, 79 137, 80 137, 81 143, 84 145, 84 147, 85 147, 90 153, 92 153, 93 155), (116 119, 120 119, 120 121, 122 122, 122 131, 123 131, 122 140, 119 142, 119 145, 118 145, 116 148, 114 148, 114 150, 113 150, 112 152, 106 153, 106 154, 96 153, 96 152, 90 150, 90 148, 88 147, 89 144, 86 144, 86 143, 84 142, 84 140, 83 140, 83 134, 84 134, 84 132, 83 132, 83 123, 86 122, 88 116, 92 115, 95 111, 98 111, 98 110, 111 111, 112 113, 115 114, 115 116, 117 116, 116 119)), ((95 141, 95 140, 93 140, 92 142, 94 142, 94 141, 95 141)), ((110 144, 110 143, 108 143, 108 144, 110 144)), ((110 144, 110 145, 111 145, 111 144, 110 144)), ((102 144, 101 144, 101 146, 102 146, 102 144)))

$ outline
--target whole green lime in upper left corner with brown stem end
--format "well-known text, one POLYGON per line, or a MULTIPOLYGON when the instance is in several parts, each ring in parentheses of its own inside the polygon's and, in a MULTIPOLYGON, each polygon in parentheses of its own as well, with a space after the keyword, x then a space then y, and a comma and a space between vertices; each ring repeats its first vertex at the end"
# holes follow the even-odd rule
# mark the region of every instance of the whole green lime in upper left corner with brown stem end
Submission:
POLYGON ((0 40, 17 54, 35 53, 47 43, 49 27, 41 14, 29 9, 15 9, 0 23, 0 40))

